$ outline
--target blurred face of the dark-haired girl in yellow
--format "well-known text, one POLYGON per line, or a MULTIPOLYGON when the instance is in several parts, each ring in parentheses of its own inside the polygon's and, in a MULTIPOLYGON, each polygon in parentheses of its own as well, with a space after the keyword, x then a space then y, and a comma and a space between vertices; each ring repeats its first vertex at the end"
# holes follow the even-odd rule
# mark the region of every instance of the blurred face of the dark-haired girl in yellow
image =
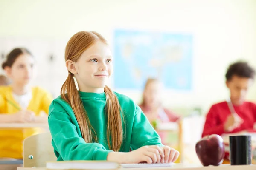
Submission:
POLYGON ((31 55, 21 54, 15 59, 12 67, 6 68, 6 74, 13 83, 19 85, 27 85, 34 77, 34 64, 35 60, 31 55))

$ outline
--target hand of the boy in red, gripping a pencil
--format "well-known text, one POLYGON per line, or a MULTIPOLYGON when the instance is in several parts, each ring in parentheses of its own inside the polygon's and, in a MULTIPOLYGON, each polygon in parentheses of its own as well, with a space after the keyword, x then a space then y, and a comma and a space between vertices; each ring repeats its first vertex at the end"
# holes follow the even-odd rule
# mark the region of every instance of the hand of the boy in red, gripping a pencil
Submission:
POLYGON ((224 131, 231 132, 234 129, 240 127, 240 125, 244 122, 237 113, 232 113, 227 117, 227 120, 224 123, 224 131))

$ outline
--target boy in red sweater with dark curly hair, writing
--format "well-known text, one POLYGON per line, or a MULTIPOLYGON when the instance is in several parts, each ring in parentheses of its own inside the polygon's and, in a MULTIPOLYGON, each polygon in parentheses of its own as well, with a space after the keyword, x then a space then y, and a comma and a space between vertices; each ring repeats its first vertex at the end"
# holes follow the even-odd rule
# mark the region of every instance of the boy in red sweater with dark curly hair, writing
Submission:
POLYGON ((235 62, 226 73, 226 85, 230 90, 231 114, 226 101, 212 105, 204 124, 202 137, 239 131, 253 131, 256 122, 256 104, 245 102, 247 89, 253 84, 255 70, 247 62, 235 62), (231 109, 232 110, 232 109, 231 109))

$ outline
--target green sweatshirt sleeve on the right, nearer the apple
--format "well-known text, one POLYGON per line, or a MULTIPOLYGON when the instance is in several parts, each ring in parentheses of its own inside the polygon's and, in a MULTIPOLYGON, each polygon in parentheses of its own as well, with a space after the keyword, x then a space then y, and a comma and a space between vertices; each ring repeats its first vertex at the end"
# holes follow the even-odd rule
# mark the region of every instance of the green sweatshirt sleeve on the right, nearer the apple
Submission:
POLYGON ((131 148, 136 150, 146 145, 160 145, 161 139, 154 128, 151 126, 140 107, 136 105, 134 123, 131 134, 131 148))

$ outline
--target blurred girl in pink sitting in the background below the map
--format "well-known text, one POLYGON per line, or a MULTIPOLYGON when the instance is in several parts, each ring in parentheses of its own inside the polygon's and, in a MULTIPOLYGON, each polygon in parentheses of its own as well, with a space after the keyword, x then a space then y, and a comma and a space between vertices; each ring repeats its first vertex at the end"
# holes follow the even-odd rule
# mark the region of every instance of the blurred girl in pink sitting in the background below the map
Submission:
MULTIPOLYGON (((157 79, 148 79, 145 83, 143 91, 143 99, 140 104, 140 108, 143 113, 147 116, 151 124, 154 121, 157 122, 177 122, 180 116, 176 115, 172 111, 163 107, 162 104, 162 90, 163 85, 157 79)), ((165 143, 166 133, 158 133, 165 143)))

